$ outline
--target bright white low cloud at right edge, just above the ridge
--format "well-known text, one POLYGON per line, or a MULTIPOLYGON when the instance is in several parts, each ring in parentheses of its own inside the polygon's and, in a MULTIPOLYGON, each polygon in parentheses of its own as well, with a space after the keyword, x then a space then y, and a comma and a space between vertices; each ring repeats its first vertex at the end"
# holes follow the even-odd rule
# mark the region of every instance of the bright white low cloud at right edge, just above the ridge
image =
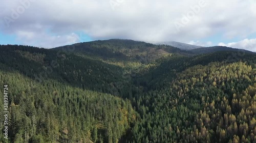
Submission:
POLYGON ((250 51, 256 52, 256 39, 244 39, 239 42, 232 42, 232 43, 219 43, 219 46, 227 46, 232 48, 238 48, 238 49, 246 49, 250 51))

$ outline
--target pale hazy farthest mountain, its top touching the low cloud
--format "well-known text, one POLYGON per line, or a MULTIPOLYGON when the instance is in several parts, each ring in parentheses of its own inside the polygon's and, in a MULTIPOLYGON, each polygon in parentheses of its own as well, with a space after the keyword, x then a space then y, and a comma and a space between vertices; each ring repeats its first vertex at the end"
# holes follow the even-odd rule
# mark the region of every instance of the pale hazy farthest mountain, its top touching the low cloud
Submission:
POLYGON ((158 42, 156 44, 164 44, 164 45, 169 45, 169 46, 173 46, 173 47, 177 47, 183 50, 191 50, 191 49, 197 49, 197 48, 201 48, 203 46, 197 46, 197 45, 190 45, 190 44, 186 44, 186 43, 180 43, 180 42, 175 42, 175 41, 169 41, 169 42, 158 42))

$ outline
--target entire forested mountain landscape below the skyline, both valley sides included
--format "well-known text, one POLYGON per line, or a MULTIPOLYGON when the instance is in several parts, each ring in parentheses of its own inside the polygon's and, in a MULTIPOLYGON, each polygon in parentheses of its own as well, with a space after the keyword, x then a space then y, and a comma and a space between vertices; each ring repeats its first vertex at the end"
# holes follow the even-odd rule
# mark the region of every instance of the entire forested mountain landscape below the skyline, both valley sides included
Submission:
POLYGON ((256 55, 236 50, 0 46, 9 142, 255 142, 255 75, 256 55))

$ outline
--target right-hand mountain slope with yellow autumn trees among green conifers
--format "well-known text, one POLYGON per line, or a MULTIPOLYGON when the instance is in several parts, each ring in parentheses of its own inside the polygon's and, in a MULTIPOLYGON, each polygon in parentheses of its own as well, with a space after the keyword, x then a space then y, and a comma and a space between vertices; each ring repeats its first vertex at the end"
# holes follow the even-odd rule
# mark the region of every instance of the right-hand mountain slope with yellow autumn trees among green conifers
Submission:
POLYGON ((228 59, 233 53, 167 58, 139 70, 134 81, 147 90, 137 95, 142 121, 132 140, 256 141, 256 55, 228 59))

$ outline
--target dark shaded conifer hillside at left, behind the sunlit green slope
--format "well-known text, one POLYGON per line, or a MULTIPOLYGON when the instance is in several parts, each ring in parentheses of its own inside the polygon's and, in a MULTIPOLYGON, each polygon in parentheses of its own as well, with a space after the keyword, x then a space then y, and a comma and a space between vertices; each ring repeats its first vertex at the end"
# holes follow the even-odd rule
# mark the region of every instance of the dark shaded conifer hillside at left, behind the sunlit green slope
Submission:
MULTIPOLYGON (((17 70, 31 79, 54 79, 75 87, 120 95, 126 73, 120 66, 90 56, 78 56, 29 46, 1 46, 2 70, 17 70), (58 56, 59 55, 59 56, 58 56)), ((132 63, 133 64, 133 63, 132 63)))

